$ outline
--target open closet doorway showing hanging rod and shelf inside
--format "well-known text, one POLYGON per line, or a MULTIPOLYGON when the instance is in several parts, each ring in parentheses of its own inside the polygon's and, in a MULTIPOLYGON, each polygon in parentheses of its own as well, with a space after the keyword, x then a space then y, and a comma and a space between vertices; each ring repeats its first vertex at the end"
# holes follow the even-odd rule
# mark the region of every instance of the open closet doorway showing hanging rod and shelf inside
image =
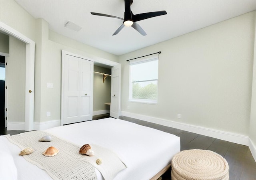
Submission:
POLYGON ((93 120, 110 117, 111 68, 94 62, 93 120))

